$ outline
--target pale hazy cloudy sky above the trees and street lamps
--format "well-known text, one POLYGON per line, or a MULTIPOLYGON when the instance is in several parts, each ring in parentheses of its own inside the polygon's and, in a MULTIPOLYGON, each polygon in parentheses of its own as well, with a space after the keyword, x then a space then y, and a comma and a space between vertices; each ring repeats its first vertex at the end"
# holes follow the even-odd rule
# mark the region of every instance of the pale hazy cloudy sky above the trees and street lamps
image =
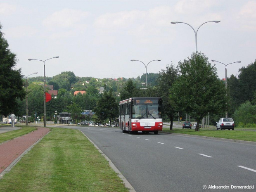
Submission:
MULTIPOLYGON (((136 78, 143 63, 159 73, 195 52, 194 28, 198 52, 210 62, 241 61, 227 66, 230 77, 255 62, 255 10, 256 0, 0 0, 0 24, 25 76, 43 76, 43 62, 29 58, 49 59, 48 77, 136 78)), ((211 63, 225 78, 218 62, 211 63)))

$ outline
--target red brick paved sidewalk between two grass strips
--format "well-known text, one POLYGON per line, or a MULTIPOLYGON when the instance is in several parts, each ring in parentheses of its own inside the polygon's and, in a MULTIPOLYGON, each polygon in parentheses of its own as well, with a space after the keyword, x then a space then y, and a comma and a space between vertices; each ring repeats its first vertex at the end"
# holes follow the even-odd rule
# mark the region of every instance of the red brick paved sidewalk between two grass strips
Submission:
POLYGON ((38 127, 31 133, 0 144, 0 178, 49 131, 49 128, 38 127))

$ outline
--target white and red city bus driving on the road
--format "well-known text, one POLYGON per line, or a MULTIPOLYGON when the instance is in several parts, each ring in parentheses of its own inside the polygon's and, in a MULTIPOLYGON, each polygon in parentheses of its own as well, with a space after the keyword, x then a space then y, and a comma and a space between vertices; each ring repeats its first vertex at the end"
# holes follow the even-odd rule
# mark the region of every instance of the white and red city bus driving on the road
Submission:
POLYGON ((163 129, 161 97, 133 97, 119 102, 119 125, 123 133, 158 134, 163 129))

